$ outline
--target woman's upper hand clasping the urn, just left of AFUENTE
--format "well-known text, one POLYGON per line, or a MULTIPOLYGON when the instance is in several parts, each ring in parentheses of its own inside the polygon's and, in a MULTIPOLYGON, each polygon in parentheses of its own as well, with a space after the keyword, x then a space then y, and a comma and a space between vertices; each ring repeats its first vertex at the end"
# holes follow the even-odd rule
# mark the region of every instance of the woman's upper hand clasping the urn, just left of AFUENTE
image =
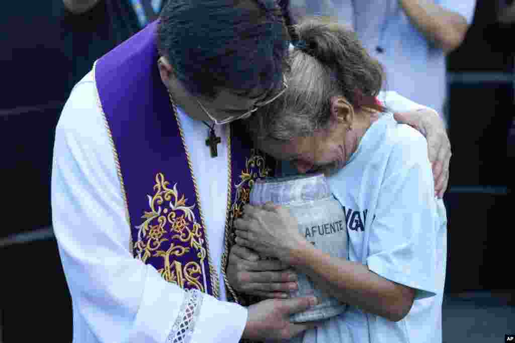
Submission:
POLYGON ((309 244, 300 234, 297 220, 289 210, 266 203, 261 207, 245 206, 243 218, 235 221, 236 243, 276 257, 288 265, 295 259, 295 251, 309 244))

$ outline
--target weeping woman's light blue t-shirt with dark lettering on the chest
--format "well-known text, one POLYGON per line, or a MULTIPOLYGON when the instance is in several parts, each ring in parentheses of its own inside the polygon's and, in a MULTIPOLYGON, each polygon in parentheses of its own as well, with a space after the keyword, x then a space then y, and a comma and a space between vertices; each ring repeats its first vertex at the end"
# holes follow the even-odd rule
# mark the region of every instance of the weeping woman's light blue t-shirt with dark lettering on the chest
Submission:
POLYGON ((425 138, 384 114, 328 180, 345 213, 349 260, 415 288, 416 300, 398 322, 350 306, 294 341, 441 342, 447 216, 434 195, 425 138))

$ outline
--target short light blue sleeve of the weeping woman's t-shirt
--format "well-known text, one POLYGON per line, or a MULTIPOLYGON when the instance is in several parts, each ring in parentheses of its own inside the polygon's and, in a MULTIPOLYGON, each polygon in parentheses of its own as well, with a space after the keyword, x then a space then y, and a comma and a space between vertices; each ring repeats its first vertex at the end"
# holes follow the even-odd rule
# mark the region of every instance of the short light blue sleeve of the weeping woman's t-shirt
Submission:
POLYGON ((385 170, 370 228, 367 265, 394 282, 415 288, 416 299, 438 293, 440 217, 427 143, 398 124, 400 135, 385 170))

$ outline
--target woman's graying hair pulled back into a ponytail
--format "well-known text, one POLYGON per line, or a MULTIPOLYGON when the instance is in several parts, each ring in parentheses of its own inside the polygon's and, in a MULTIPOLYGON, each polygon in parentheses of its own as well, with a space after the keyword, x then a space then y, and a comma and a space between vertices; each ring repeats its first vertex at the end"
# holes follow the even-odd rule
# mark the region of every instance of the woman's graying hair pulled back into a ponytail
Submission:
POLYGON ((288 89, 247 121, 255 139, 291 140, 327 129, 334 96, 344 96, 355 111, 384 111, 375 98, 383 69, 354 32, 320 19, 306 20, 295 29, 299 40, 290 51, 288 89))

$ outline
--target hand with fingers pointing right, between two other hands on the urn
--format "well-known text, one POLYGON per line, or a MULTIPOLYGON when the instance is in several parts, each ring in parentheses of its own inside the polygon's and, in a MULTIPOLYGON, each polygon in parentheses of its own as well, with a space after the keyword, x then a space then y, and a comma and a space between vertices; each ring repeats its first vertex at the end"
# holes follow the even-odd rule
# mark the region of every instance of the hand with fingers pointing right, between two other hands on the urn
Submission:
POLYGON ((288 298, 297 290, 297 274, 278 260, 260 260, 256 252, 234 245, 229 255, 227 278, 235 291, 263 298, 288 298))

